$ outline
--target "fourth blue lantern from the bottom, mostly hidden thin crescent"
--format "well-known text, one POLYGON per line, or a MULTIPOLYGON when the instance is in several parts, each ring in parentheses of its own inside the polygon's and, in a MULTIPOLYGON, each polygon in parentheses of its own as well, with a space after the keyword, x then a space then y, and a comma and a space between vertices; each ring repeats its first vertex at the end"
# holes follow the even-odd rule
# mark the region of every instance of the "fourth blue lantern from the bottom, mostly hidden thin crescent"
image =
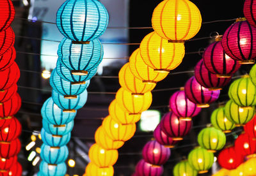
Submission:
POLYGON ((47 133, 50 133, 52 135, 66 135, 67 133, 70 133, 74 127, 74 121, 70 121, 67 124, 61 124, 61 125, 54 125, 51 124, 43 119, 43 128, 47 133))

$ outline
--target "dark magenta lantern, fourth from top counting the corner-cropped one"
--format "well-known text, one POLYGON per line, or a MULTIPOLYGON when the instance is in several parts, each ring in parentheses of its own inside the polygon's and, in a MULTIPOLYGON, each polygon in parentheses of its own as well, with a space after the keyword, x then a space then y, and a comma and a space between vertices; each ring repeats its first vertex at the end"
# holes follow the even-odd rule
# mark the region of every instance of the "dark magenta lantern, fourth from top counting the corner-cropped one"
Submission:
POLYGON ((225 87, 231 80, 229 78, 219 78, 217 75, 212 74, 204 66, 204 61, 201 59, 195 66, 195 78, 196 81, 209 91, 220 90, 225 87))

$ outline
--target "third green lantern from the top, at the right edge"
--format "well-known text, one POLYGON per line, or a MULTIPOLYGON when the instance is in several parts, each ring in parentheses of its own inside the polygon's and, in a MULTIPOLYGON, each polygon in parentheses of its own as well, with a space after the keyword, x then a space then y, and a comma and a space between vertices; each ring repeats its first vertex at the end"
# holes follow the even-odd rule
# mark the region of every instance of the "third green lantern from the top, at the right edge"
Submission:
POLYGON ((255 106, 243 108, 230 99, 225 105, 225 115, 227 119, 234 122, 236 126, 243 126, 253 119, 255 114, 255 106))

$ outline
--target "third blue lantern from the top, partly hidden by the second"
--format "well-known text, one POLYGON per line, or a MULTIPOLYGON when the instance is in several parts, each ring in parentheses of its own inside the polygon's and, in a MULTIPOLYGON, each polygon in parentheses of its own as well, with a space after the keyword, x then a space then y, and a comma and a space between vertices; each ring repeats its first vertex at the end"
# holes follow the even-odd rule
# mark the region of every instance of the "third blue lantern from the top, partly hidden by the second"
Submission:
POLYGON ((63 80, 56 72, 56 68, 52 70, 50 77, 50 84, 54 91, 62 94, 64 98, 72 99, 77 98, 77 95, 81 94, 88 84, 75 84, 72 85, 71 82, 63 80))

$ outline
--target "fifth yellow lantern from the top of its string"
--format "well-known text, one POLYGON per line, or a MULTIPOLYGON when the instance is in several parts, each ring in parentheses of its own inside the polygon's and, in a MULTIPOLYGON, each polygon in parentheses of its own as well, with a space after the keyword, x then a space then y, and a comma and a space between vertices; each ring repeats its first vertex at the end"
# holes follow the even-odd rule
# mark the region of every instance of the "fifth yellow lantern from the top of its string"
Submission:
POLYGON ((122 110, 129 113, 129 115, 140 114, 147 110, 152 103, 152 93, 147 92, 143 95, 132 95, 131 92, 120 88, 116 92, 116 103, 122 110))

